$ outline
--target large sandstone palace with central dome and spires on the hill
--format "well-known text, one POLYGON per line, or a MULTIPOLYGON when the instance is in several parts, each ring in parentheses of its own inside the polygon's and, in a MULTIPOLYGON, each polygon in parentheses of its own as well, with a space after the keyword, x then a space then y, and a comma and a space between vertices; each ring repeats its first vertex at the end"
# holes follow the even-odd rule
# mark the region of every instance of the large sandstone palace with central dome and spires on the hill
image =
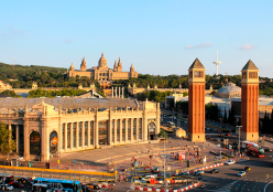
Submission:
POLYGON ((102 87, 111 86, 111 82, 116 79, 129 79, 132 77, 138 78, 138 72, 134 71, 133 64, 130 67, 130 72, 122 72, 122 63, 119 58, 119 62, 117 63, 117 60, 114 61, 113 68, 109 68, 107 66, 107 60, 101 54, 101 57, 99 58, 98 66, 94 66, 91 68, 87 70, 85 57, 81 60, 80 70, 75 70, 75 66, 70 65, 70 68, 67 72, 68 77, 74 76, 87 76, 92 79, 97 79, 99 84, 102 87))

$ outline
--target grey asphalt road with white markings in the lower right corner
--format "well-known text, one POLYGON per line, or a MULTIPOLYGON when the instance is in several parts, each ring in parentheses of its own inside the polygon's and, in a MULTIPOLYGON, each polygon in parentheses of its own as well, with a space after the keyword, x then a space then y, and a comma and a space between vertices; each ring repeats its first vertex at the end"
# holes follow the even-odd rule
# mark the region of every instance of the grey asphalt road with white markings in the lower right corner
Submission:
MULTIPOLYGON (((266 174, 272 174, 273 168, 271 158, 250 158, 249 161, 237 162, 232 166, 223 166, 219 168, 220 173, 211 174, 205 171, 205 175, 199 178, 201 184, 205 184, 203 191, 218 192, 259 192, 263 191, 265 185, 273 181, 273 175, 266 178, 266 174), (245 166, 251 167, 251 171, 245 177, 239 178, 237 173, 245 166)), ((200 191, 200 188, 192 191, 200 191)), ((273 183, 267 184, 266 192, 273 191, 273 183)))

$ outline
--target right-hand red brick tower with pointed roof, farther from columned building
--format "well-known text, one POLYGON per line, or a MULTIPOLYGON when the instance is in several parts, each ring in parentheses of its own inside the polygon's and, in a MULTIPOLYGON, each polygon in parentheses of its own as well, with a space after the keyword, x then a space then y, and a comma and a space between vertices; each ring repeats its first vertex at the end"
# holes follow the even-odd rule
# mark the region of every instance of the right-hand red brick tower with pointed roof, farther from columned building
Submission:
POLYGON ((249 62, 242 68, 241 96, 241 139, 259 139, 259 70, 249 62))

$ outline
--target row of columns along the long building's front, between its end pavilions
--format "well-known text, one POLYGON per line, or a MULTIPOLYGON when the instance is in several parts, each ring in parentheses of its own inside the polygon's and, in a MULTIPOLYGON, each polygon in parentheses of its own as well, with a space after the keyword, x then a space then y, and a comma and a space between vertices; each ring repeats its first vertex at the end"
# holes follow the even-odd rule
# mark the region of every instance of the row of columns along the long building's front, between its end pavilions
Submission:
POLYGON ((148 130, 143 129, 142 118, 63 122, 62 132, 58 134, 59 149, 74 151, 98 148, 100 139, 105 139, 102 145, 109 146, 148 140, 145 132, 148 130))

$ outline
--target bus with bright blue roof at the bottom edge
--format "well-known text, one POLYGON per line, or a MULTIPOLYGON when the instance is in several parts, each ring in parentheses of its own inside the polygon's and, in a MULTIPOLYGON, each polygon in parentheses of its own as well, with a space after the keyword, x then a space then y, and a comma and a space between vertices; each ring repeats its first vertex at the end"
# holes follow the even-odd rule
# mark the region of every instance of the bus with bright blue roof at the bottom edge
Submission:
POLYGON ((50 179, 50 178, 36 178, 33 180, 33 184, 35 183, 43 183, 43 184, 51 184, 55 186, 57 184, 62 184, 64 191, 66 192, 81 192, 81 184, 79 181, 74 180, 62 180, 62 179, 50 179))

